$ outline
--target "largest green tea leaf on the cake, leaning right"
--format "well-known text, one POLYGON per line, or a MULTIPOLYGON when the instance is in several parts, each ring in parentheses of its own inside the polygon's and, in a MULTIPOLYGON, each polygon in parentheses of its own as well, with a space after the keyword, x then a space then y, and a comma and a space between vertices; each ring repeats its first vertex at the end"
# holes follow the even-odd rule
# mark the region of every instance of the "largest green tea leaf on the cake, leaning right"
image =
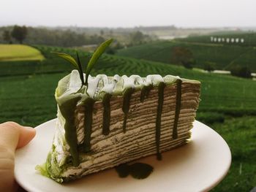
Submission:
POLYGON ((97 50, 95 50, 94 54, 91 56, 89 64, 86 67, 86 82, 85 82, 85 85, 88 85, 88 77, 89 77, 89 74, 91 72, 91 69, 94 67, 94 65, 98 61, 100 55, 102 55, 102 53, 104 53, 104 51, 110 45, 111 42, 113 42, 113 39, 108 39, 107 41, 102 42, 102 44, 99 45, 97 50))

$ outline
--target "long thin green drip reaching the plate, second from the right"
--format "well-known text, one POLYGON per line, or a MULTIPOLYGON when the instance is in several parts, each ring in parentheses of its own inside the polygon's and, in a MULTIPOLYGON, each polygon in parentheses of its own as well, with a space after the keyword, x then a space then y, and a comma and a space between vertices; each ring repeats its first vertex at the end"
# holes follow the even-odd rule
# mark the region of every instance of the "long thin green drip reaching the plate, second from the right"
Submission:
POLYGON ((160 135, 161 135, 162 104, 164 103, 164 90, 165 90, 165 82, 159 82, 159 85, 158 85, 157 120, 156 120, 157 160, 162 160, 162 155, 159 151, 159 146, 160 146, 160 135))

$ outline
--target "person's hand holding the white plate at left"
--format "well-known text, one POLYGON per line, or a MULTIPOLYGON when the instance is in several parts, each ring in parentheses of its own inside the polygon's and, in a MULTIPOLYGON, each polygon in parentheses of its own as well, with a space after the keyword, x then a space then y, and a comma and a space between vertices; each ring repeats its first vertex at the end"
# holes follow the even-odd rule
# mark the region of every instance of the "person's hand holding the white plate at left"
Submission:
POLYGON ((34 128, 18 123, 0 124, 0 191, 17 190, 14 178, 15 150, 27 145, 35 134, 34 128))

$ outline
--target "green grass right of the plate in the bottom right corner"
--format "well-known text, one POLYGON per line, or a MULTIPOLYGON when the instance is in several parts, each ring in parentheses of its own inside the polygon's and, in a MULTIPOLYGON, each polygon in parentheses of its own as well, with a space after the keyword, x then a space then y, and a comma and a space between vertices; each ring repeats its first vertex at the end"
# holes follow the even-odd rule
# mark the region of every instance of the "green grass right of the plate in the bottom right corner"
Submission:
POLYGON ((256 186, 256 118, 230 118, 211 126, 225 139, 232 153, 230 171, 213 191, 251 191, 256 186))

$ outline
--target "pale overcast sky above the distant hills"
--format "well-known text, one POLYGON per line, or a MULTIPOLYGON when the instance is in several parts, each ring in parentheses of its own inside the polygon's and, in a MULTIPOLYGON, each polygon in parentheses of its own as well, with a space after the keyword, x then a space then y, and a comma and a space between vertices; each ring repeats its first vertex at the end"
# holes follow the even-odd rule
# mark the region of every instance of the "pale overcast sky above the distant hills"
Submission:
POLYGON ((255 0, 0 0, 0 26, 256 26, 255 0))

